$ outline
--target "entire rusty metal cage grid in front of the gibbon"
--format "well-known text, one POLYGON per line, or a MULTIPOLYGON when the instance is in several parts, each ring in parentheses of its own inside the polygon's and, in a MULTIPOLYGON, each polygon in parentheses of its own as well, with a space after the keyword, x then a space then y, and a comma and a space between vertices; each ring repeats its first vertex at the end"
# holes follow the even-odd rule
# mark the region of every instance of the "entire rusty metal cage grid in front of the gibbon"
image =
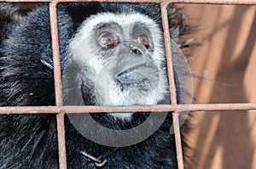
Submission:
POLYGON ((105 112, 148 112, 148 111, 173 111, 173 126, 175 132, 177 165, 178 169, 183 169, 183 151, 179 121, 179 112, 182 111, 218 111, 218 110, 256 110, 256 104, 177 104, 177 93, 174 83, 172 69, 172 49, 167 17, 167 7, 170 3, 203 3, 203 4, 251 4, 255 5, 256 0, 0 0, 0 2, 15 3, 49 3, 50 31, 52 37, 54 77, 55 77, 55 106, 7 106, 0 107, 0 114, 56 114, 57 134, 59 147, 59 167, 67 168, 66 143, 65 143, 65 124, 64 115, 70 113, 101 113, 105 112), (169 78, 169 90, 171 93, 172 104, 158 105, 127 105, 127 106, 64 106, 62 101, 61 87, 61 65, 58 42, 57 27, 57 3, 64 2, 115 2, 115 3, 160 3, 164 39, 166 46, 167 73, 169 78))

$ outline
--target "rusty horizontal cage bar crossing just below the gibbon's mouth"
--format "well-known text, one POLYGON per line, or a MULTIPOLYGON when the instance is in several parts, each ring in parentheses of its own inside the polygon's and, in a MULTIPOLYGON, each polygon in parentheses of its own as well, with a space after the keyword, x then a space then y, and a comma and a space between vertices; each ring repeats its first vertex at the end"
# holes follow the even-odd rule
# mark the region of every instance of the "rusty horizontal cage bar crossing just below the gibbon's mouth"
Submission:
POLYGON ((157 105, 81 105, 81 106, 5 106, 0 114, 56 114, 56 113, 102 113, 102 112, 161 112, 161 111, 219 111, 256 110, 256 104, 157 104, 157 105))

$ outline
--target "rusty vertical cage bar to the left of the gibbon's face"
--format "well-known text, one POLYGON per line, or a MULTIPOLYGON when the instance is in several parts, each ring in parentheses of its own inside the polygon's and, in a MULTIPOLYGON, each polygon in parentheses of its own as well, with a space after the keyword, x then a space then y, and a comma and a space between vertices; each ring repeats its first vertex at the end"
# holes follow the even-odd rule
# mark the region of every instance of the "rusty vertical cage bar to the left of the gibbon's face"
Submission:
MULTIPOLYGON (((57 25, 57 12, 55 1, 49 3, 49 18, 50 18, 50 31, 52 39, 52 53, 53 65, 55 76, 55 104, 63 106, 62 101, 62 87, 61 87, 61 62, 58 41, 58 25, 57 25)), ((65 141, 65 123, 64 113, 56 115, 57 121, 57 134, 58 134, 58 149, 59 149, 59 167, 67 169, 67 156, 66 156, 66 141, 65 141)))

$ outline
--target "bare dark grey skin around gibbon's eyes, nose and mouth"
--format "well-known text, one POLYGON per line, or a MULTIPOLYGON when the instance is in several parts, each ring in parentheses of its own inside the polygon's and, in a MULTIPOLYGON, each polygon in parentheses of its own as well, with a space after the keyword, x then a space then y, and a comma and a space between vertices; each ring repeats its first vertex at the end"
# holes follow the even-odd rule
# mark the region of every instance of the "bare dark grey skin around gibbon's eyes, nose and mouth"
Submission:
POLYGON ((95 36, 105 64, 111 65, 111 57, 118 60, 110 71, 122 91, 136 86, 147 92, 157 85, 158 70, 151 57, 154 43, 145 25, 135 23, 130 32, 125 32, 117 23, 102 23, 96 26, 95 36))

